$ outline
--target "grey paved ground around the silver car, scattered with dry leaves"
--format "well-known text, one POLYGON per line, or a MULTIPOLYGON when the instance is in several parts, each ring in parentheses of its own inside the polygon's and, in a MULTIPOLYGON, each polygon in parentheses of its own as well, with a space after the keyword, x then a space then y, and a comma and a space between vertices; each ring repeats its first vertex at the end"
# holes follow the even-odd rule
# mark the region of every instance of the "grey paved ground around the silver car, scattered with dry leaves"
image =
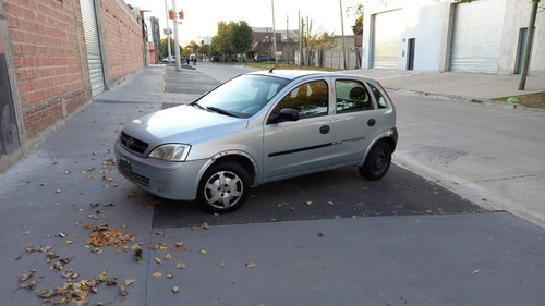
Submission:
MULTIPOLYGON (((524 156, 543 162, 545 142, 530 145, 543 136, 514 127, 524 121, 543 131, 543 113, 390 93, 400 143, 383 180, 348 168, 265 184, 225 216, 156 198, 118 174, 112 144, 125 122, 244 71, 147 68, 2 173, 0 305, 51 305, 37 295, 99 274, 110 285, 99 282, 88 305, 545 303, 543 228, 512 215, 519 206, 498 208, 483 196, 543 180, 543 167, 498 162, 517 156, 519 140, 524 156), (97 243, 98 231, 114 240, 97 243)), ((524 209, 542 216, 541 206, 524 209)))

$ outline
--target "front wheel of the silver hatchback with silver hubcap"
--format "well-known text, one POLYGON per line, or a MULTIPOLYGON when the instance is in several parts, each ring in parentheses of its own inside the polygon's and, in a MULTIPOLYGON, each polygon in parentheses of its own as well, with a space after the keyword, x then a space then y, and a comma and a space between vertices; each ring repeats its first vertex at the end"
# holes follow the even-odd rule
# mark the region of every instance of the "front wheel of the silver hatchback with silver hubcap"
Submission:
POLYGON ((201 179, 197 191, 198 205, 210 212, 230 212, 246 200, 250 176, 238 163, 213 164, 201 179))

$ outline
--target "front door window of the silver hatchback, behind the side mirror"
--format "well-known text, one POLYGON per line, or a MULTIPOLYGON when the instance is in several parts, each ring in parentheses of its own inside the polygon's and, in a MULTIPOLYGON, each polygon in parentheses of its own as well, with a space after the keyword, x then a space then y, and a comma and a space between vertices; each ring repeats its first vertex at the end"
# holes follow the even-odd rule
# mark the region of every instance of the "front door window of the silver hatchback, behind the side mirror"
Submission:
POLYGON ((323 79, 300 85, 280 100, 272 110, 268 122, 276 122, 281 109, 296 110, 300 119, 326 115, 329 110, 328 93, 327 82, 323 79))

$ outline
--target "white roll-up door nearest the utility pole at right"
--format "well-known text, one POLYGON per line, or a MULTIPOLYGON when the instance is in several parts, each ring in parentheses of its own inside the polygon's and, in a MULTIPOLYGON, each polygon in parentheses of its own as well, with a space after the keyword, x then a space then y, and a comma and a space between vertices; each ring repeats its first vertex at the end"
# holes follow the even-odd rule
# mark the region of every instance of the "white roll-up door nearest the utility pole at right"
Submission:
POLYGON ((455 8, 450 71, 497 73, 506 0, 480 0, 455 8))

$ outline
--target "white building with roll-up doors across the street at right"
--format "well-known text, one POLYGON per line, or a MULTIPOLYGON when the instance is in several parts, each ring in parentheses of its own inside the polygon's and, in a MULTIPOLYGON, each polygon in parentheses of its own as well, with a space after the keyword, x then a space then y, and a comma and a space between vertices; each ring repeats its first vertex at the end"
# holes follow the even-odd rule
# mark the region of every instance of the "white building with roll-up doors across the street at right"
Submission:
MULTIPOLYGON (((383 1, 364 11, 363 69, 518 74, 531 1, 383 1)), ((538 13, 530 75, 545 74, 545 14, 538 13)))

